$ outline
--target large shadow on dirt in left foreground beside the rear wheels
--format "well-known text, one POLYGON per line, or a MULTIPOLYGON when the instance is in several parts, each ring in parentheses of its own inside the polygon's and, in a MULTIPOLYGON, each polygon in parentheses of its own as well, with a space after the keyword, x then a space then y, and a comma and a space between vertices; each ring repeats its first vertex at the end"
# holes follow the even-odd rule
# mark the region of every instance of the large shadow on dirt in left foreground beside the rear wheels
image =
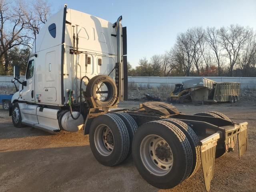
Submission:
POLYGON ((2 152, 0 162, 0 191, 157 191, 142 179, 131 157, 106 167, 90 146, 2 152))

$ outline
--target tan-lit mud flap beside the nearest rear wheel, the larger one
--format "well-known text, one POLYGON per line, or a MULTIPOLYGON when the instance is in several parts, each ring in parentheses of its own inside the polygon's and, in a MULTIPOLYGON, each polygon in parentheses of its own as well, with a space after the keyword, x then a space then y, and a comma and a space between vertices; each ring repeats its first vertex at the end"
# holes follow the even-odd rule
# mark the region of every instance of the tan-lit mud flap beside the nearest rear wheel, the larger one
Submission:
POLYGON ((214 173, 216 146, 219 138, 220 133, 217 132, 200 141, 201 162, 204 174, 204 186, 206 191, 210 191, 211 181, 214 173))

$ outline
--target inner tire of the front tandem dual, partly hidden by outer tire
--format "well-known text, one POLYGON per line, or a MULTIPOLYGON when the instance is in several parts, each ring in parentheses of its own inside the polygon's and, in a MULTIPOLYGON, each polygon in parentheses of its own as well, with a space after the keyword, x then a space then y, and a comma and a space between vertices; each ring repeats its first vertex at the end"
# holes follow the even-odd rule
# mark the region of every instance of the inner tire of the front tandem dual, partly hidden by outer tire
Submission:
POLYGON ((123 120, 123 122, 126 125, 126 128, 128 130, 129 140, 130 140, 129 152, 126 157, 126 158, 128 158, 130 156, 130 154, 132 153, 132 140, 133 140, 135 132, 138 130, 138 125, 135 122, 135 120, 132 118, 132 116, 130 116, 127 113, 115 113, 115 114, 123 120))

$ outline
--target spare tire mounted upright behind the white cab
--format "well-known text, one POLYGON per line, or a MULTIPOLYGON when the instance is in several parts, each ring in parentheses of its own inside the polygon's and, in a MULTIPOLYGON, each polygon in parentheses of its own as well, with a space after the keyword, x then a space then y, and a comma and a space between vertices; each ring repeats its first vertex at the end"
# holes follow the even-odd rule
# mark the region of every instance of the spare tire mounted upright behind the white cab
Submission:
POLYGON ((113 106, 118 101, 116 84, 106 75, 91 78, 86 86, 86 94, 88 97, 93 97, 97 107, 113 106))

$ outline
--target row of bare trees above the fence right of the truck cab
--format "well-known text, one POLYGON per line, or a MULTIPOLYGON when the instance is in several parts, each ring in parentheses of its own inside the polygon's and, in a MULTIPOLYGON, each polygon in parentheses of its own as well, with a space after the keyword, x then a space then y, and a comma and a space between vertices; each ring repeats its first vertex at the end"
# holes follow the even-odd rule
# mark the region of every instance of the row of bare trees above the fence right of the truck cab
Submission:
POLYGON ((194 27, 181 32, 164 54, 141 58, 129 76, 256 75, 256 33, 240 25, 194 27))

